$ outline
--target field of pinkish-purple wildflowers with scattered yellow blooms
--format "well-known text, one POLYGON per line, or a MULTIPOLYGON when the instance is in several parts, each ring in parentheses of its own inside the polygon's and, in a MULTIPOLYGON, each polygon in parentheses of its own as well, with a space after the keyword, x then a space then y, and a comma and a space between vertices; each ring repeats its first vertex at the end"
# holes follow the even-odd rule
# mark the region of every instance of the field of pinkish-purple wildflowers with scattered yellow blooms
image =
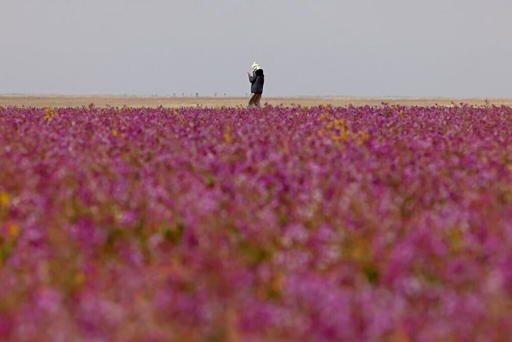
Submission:
POLYGON ((511 336, 510 107, 0 107, 2 341, 511 336))

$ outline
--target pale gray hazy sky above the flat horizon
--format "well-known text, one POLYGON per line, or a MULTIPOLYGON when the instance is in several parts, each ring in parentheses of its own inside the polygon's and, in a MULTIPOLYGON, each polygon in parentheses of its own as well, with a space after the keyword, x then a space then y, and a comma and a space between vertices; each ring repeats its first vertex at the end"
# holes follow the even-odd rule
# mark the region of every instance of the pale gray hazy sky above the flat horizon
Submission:
POLYGON ((0 93, 512 97, 510 0, 0 0, 0 93))

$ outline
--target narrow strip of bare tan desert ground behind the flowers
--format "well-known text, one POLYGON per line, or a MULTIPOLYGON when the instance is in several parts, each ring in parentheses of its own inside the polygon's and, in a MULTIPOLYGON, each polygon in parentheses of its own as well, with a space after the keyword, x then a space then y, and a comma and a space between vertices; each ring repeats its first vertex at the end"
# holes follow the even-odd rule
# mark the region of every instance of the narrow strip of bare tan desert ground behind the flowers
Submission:
MULTIPOLYGON (((26 107, 81 107, 91 103, 97 107, 245 107, 248 98, 229 96, 116 96, 116 95, 25 95, 25 94, 0 94, 0 106, 26 106, 26 107)), ((468 104, 474 106, 496 105, 512 106, 512 98, 412 98, 412 97, 334 97, 334 96, 309 96, 309 97, 262 97, 262 104, 286 107, 318 106, 330 104, 332 106, 378 106, 382 102, 391 105, 403 106, 454 106, 468 104)))

